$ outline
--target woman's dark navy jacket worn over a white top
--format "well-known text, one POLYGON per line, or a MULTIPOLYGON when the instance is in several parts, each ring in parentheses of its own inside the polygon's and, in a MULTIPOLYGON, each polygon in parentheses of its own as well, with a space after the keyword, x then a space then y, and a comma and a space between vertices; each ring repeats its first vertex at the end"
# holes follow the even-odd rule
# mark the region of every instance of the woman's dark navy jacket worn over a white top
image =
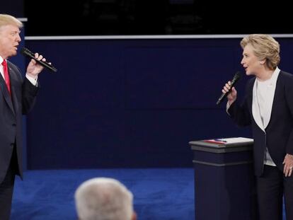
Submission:
POLYGON ((255 78, 246 85, 246 97, 242 105, 237 101, 228 109, 229 115, 239 126, 252 125, 253 157, 255 175, 263 173, 265 146, 276 166, 283 170, 286 154, 293 154, 293 75, 280 71, 272 103, 270 122, 263 132, 255 123, 252 114, 253 84, 255 78))

